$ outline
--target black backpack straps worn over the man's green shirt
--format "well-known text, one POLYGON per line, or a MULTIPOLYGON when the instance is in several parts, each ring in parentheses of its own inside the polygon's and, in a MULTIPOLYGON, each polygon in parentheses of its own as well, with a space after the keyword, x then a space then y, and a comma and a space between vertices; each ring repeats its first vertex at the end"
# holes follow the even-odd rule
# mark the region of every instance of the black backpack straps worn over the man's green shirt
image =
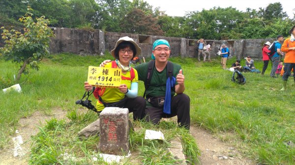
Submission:
MULTIPOLYGON (((146 97, 146 90, 150 86, 150 80, 152 76, 152 71, 155 66, 155 60, 151 60, 148 62, 148 73, 147 73, 147 79, 145 81, 145 93, 144 93, 144 98, 146 97)), ((166 76, 171 77, 173 76, 173 64, 172 62, 168 61, 166 65, 166 76)), ((159 84, 159 86, 166 86, 166 84, 159 84)), ((173 91, 175 91, 175 87, 172 88, 173 91)))

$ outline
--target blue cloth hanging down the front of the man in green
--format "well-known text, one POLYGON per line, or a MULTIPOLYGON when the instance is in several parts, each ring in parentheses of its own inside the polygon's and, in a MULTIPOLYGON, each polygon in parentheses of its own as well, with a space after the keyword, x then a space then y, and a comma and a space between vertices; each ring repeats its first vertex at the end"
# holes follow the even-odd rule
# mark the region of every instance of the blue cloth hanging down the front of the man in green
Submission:
POLYGON ((166 81, 166 94, 165 94, 165 102, 164 102, 164 110, 165 114, 171 114, 171 88, 175 86, 176 78, 170 77, 167 78, 166 81))

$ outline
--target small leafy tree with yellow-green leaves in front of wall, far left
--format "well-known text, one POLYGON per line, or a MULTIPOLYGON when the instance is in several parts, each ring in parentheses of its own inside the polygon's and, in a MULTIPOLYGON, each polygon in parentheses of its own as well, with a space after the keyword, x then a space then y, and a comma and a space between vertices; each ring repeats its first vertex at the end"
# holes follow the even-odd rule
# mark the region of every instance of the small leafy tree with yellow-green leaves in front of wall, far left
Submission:
POLYGON ((29 11, 32 11, 32 9, 29 8, 25 16, 19 19, 25 26, 24 33, 1 27, 3 29, 1 35, 5 43, 4 47, 0 47, 1 55, 4 56, 5 60, 11 60, 21 65, 17 74, 17 81, 22 73, 29 72, 27 65, 31 69, 39 69, 38 62, 49 53, 50 37, 54 36, 53 31, 47 26, 49 21, 42 16, 36 18, 36 22, 34 22, 29 11))

